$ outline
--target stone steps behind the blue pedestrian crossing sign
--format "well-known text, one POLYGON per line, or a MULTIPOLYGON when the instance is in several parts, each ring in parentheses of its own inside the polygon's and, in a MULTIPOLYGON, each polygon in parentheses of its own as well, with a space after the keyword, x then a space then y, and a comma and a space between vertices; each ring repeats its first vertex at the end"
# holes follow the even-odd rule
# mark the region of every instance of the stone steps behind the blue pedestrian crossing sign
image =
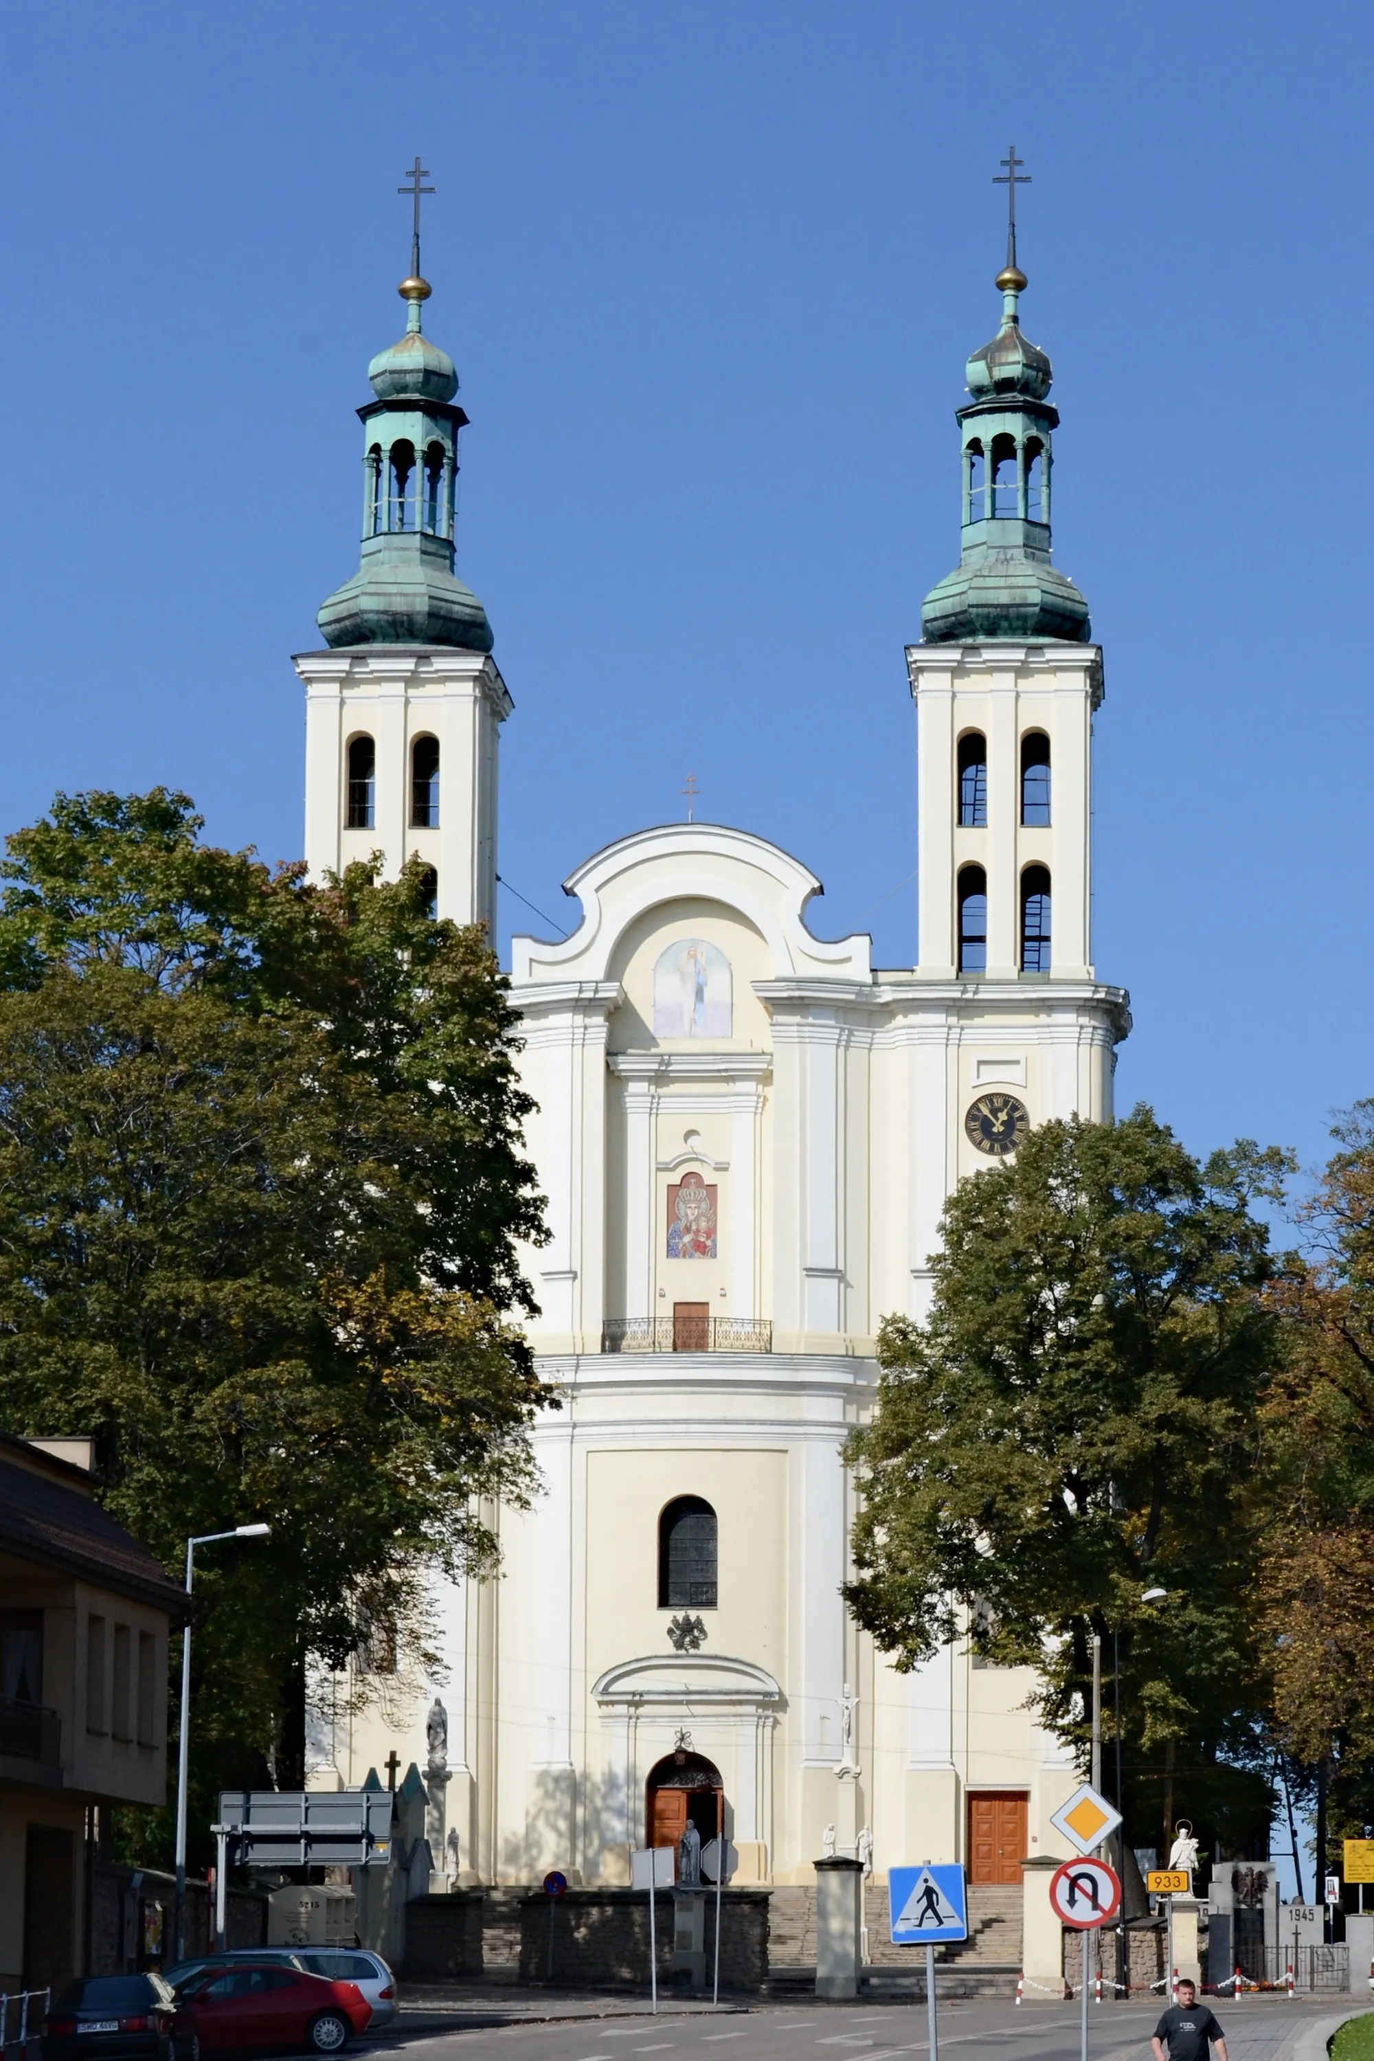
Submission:
MULTIPOLYGON (((925 1995, 925 1954, 892 1946, 888 1937, 888 1884, 871 1876, 863 1886, 867 1929, 867 1991, 925 1995)), ((1022 1968, 1022 1890, 974 1882, 968 1886, 968 1939, 935 1950, 941 1997, 1011 1997, 1022 1968)), ((775 1888, 768 1908, 768 1983, 772 1995, 810 1989, 816 1981, 816 1890, 775 1888)))

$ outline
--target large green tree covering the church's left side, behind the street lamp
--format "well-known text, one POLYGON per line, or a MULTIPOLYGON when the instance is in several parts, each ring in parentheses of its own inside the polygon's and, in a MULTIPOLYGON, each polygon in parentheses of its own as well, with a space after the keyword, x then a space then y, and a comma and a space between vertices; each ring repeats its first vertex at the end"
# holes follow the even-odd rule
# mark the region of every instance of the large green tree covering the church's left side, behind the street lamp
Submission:
MULTIPOLYGON (((546 1399, 515 1020, 416 868, 309 886, 183 796, 60 796, 0 868, 0 1422, 93 1432, 198 1568, 198 1783, 301 1777, 307 1653, 492 1562, 546 1399)), ((198 1812, 204 1818, 204 1810, 198 1812)))

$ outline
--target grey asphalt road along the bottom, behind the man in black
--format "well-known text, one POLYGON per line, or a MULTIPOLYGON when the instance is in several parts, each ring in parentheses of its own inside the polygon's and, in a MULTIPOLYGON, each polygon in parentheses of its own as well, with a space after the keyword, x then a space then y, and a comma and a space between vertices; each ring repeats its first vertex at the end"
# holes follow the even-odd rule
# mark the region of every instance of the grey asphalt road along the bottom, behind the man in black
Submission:
MULTIPOLYGON (((1230 2061, 1283 2061, 1304 2024, 1331 2018, 1341 1997, 1312 2003, 1248 1999, 1217 2009, 1230 2061)), ((1351 1999, 1358 2009, 1358 2001, 1351 1999)), ((622 2007, 624 2009, 624 2007, 622 2007)), ((1090 2061, 1149 2061, 1149 2034, 1160 2003, 1104 2003, 1090 2012, 1090 2061)), ((408 2032, 387 2038, 389 2053, 410 2061, 896 2061, 925 2055, 925 2005, 756 2005, 721 2012, 661 2012, 657 2018, 579 2018, 564 2024, 519 2024, 490 2030, 408 2032)), ((939 2051, 950 2061, 1077 2061, 1077 2005, 1009 1999, 941 2003, 939 2051)))

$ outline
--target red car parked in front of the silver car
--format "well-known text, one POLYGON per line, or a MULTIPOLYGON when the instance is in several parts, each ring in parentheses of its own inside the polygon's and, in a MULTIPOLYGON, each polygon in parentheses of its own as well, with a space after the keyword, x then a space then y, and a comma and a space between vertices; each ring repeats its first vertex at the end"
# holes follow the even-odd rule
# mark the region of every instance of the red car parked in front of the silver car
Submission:
POLYGON ((356 1983, 284 1968, 278 1962, 237 1962, 204 1968, 177 1989, 175 2040, 183 2061, 231 2047, 305 2047, 336 2055, 365 2032, 373 2007, 356 1983))

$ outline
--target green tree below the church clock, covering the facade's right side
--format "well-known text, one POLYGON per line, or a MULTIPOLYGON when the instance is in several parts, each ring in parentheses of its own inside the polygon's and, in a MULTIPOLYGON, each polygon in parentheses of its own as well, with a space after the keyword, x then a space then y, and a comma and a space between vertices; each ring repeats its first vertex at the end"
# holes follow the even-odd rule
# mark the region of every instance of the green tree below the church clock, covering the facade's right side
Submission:
POLYGON ((878 1412, 849 1441, 857 1620, 898 1667, 962 1630, 1034 1665, 1042 1719, 1079 1750, 1092 1634, 1108 1667, 1117 1643, 1129 1816, 1152 1845, 1174 1807, 1220 1836, 1269 1816, 1240 1772, 1259 1715, 1248 1498, 1277 1354, 1250 1204, 1285 1164, 1238 1144, 1199 1167, 1143 1107, 1040 1125, 950 1197, 929 1321, 882 1327, 878 1412), (1166 1601, 1145 1603, 1152 1587, 1166 1601))

